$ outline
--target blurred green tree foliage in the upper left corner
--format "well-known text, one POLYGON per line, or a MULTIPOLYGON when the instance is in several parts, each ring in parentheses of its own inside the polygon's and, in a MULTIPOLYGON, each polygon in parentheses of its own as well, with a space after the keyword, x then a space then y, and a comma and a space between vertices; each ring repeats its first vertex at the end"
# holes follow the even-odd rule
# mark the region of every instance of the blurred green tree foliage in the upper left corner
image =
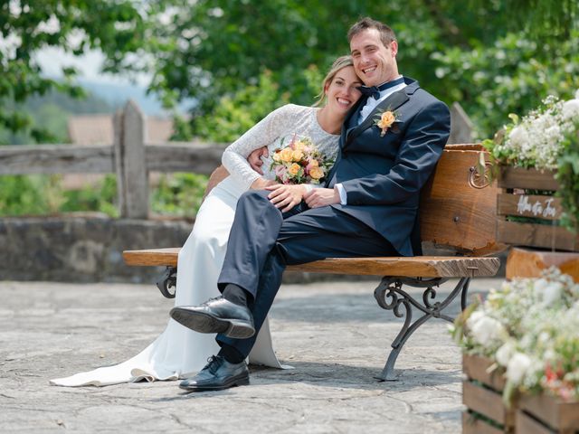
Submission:
POLYGON ((106 56, 105 69, 127 66, 127 53, 145 43, 146 21, 133 0, 8 0, 0 3, 0 127, 12 132, 27 130, 37 142, 53 140, 42 126, 18 109, 33 95, 59 90, 81 97, 73 81, 74 68, 62 69, 63 80, 43 76, 34 54, 59 47, 80 55, 99 49, 106 56), (14 101, 15 105, 6 101, 14 101))

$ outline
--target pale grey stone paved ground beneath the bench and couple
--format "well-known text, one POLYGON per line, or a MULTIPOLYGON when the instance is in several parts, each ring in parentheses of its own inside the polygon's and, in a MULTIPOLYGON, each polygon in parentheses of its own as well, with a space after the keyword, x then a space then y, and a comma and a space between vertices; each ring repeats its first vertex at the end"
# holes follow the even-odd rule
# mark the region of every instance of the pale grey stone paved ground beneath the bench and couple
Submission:
MULTIPOLYGON (((471 294, 498 281, 475 279, 471 294)), ((460 351, 446 323, 429 321, 408 341, 400 381, 373 380, 402 324, 375 304, 374 288, 284 285, 271 330, 295 369, 254 368, 249 387, 185 394, 176 382, 48 384, 150 343, 172 305, 156 288, 0 281, 0 432, 460 432, 460 351)))

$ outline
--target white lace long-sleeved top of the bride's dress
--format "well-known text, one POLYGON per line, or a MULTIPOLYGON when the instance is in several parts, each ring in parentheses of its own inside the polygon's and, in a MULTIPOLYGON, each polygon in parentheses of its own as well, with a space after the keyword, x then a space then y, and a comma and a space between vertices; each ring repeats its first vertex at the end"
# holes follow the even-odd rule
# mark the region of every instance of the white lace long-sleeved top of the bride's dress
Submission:
POLYGON ((317 113, 318 108, 288 104, 272 111, 242 137, 227 146, 223 152, 222 162, 235 183, 247 190, 253 181, 260 177, 247 162, 247 157, 262 146, 268 146, 270 152, 269 157, 262 157, 263 177, 275 179, 275 174, 270 170, 273 151, 288 146, 295 135, 309 137, 322 154, 335 160, 339 135, 324 131, 318 124, 317 113))

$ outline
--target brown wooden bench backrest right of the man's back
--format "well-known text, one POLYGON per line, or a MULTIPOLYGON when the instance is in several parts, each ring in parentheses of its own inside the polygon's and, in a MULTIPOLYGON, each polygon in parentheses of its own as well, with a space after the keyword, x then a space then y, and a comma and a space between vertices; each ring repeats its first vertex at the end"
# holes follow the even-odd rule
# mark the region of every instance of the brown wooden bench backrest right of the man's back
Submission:
POLYGON ((447 145, 421 193, 421 237, 470 256, 503 247, 495 237, 496 183, 476 171, 480 145, 447 145))

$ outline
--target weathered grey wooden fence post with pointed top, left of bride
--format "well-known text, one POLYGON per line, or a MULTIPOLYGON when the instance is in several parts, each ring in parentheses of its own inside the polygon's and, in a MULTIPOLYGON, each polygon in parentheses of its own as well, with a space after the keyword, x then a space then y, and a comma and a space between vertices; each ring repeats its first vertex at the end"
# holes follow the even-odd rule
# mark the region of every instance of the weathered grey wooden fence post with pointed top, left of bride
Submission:
POLYGON ((115 169, 122 218, 147 219, 148 172, 145 116, 133 100, 114 117, 115 169))

